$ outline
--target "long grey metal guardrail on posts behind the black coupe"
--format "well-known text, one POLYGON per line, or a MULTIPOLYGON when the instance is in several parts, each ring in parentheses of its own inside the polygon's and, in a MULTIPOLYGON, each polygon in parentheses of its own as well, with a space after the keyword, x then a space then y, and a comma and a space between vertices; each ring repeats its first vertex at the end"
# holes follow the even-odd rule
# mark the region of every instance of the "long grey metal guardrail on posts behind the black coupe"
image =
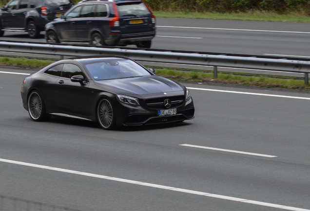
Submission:
POLYGON ((81 46, 48 43, 0 42, 0 51, 63 56, 110 55, 124 56, 143 62, 176 63, 213 66, 214 78, 217 67, 250 68, 293 73, 304 73, 305 84, 309 83, 310 61, 291 58, 245 57, 237 55, 203 54, 198 52, 161 51, 135 48, 109 48, 104 46, 81 46))

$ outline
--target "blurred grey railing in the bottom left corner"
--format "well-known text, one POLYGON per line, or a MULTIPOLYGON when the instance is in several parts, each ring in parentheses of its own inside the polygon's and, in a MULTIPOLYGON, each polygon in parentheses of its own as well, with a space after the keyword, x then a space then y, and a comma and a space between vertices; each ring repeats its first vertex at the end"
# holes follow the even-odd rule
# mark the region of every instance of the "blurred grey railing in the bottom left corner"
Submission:
POLYGON ((66 207, 0 195, 0 211, 79 211, 66 207))

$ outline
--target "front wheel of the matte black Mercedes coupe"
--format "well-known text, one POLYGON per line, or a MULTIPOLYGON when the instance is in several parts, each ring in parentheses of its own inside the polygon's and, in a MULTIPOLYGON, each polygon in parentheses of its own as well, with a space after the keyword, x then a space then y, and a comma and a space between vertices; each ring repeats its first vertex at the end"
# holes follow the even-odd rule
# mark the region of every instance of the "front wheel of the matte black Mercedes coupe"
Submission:
POLYGON ((113 105, 108 99, 101 99, 97 107, 97 119, 99 125, 105 130, 115 128, 115 111, 113 105))

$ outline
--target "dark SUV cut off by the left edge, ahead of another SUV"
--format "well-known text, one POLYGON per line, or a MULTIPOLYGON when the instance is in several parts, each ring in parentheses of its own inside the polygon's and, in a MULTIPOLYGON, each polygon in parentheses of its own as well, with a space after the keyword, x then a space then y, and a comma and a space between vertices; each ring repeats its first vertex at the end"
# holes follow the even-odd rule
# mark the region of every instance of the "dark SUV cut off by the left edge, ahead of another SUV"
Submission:
POLYGON ((73 5, 72 0, 11 0, 0 11, 0 37, 4 31, 18 31, 38 38, 46 23, 73 5))

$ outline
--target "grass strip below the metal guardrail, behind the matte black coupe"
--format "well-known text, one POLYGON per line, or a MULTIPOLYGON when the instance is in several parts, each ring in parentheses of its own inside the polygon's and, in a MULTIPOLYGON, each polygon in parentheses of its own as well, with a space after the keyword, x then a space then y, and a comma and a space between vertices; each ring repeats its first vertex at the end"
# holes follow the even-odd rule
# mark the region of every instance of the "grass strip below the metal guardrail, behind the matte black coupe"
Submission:
MULTIPOLYGON (((7 58, 0 57, 0 65, 8 67, 41 69, 55 61, 27 59, 27 58, 7 58)), ((213 78, 213 73, 210 71, 202 72, 191 69, 177 69, 177 68, 162 68, 148 66, 154 68, 156 74, 168 79, 179 81, 192 81, 192 82, 210 82, 210 83, 223 83, 223 84, 242 84, 261 87, 278 87, 286 89, 300 89, 310 90, 310 85, 305 85, 304 80, 294 79, 292 77, 274 78, 275 76, 266 75, 253 75, 253 74, 240 74, 240 73, 218 73, 217 78, 213 78)))

